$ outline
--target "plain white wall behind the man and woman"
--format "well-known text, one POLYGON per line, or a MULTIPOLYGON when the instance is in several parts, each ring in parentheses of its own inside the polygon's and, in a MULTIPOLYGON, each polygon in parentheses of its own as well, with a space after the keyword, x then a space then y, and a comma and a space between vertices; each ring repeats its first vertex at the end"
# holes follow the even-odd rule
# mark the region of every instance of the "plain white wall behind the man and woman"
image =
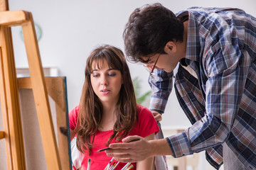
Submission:
MULTIPOLYGON (((10 10, 31 11, 35 23, 43 30, 39 43, 43 67, 58 67, 60 76, 67 77, 68 107, 78 105, 84 81, 85 61, 99 44, 124 49, 122 32, 134 8, 151 4, 152 0, 9 0, 10 10)), ((238 7, 256 16, 255 0, 161 0, 174 13, 191 6, 238 7)), ((28 67, 20 27, 13 28, 16 67, 28 67)), ((132 77, 142 79, 142 92, 148 91, 148 73, 142 65, 129 64, 132 77)), ((173 94, 170 96, 163 127, 188 126, 173 94)))

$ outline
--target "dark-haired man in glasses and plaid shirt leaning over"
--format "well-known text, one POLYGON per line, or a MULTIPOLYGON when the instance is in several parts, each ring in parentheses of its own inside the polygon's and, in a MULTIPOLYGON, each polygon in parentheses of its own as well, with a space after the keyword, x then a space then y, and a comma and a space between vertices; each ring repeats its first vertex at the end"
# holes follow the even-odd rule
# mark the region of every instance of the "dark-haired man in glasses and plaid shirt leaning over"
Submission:
POLYGON ((219 169, 256 169, 256 18, 238 8, 137 8, 124 30, 127 58, 150 71, 150 109, 161 120, 174 89, 192 125, 161 140, 130 136, 107 155, 137 162, 206 151, 219 169), (129 142, 139 138, 137 142, 129 142))

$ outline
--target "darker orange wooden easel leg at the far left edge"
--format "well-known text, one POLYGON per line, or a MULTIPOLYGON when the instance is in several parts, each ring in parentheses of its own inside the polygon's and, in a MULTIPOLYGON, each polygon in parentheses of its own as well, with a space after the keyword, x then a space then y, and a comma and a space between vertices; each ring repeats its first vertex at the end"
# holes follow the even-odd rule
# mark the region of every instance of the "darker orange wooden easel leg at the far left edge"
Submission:
POLYGON ((7 164, 9 169, 26 169, 11 28, 0 27, 0 46, 1 72, 4 73, 1 80, 1 88, 4 90, 1 93, 1 106, 4 120, 7 121, 4 127, 8 132, 7 164))

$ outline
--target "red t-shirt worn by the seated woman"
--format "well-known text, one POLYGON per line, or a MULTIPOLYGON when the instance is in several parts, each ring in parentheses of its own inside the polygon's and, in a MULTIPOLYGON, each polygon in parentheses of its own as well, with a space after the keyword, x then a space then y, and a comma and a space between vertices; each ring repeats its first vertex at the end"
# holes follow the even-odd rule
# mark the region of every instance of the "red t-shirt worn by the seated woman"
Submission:
MULTIPOLYGON (((78 118, 78 111, 79 111, 79 108, 78 106, 76 106, 68 114, 71 130, 75 130, 75 126, 78 118)), ((146 137, 148 135, 151 135, 152 133, 156 134, 157 132, 159 132, 159 127, 156 123, 156 120, 154 119, 153 114, 151 113, 151 111, 149 111, 148 108, 137 105, 137 111, 138 111, 139 121, 137 125, 133 128, 132 132, 129 133, 129 135, 139 135, 141 137, 146 137)), ((88 157, 88 154, 84 154, 84 157, 82 159, 82 170, 87 169, 87 161, 89 158, 91 159, 90 169, 99 169, 99 170, 105 169, 107 164, 110 162, 111 157, 107 157, 105 152, 96 152, 96 151, 106 147, 105 144, 107 143, 108 139, 112 134, 113 134, 113 130, 108 130, 103 132, 100 130, 97 130, 90 157, 88 157)), ((114 143, 114 140, 112 140, 111 143, 114 143)), ((114 162, 116 161, 113 161, 113 163, 114 162)), ((115 168, 115 170, 122 169, 124 165, 125 163, 120 162, 115 168)), ((136 169, 136 164, 133 164, 133 165, 134 165, 134 169, 136 169)))

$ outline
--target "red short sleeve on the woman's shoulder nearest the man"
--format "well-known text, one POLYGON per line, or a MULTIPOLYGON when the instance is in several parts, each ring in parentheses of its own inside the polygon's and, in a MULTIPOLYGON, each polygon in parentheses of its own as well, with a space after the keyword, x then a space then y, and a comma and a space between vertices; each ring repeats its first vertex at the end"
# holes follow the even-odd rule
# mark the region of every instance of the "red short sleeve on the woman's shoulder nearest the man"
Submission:
MULTIPOLYGON (((141 106, 142 107, 142 106, 141 106)), ((139 136, 146 137, 159 132, 159 126, 156 123, 154 115, 148 108, 142 107, 139 115, 139 136)))

